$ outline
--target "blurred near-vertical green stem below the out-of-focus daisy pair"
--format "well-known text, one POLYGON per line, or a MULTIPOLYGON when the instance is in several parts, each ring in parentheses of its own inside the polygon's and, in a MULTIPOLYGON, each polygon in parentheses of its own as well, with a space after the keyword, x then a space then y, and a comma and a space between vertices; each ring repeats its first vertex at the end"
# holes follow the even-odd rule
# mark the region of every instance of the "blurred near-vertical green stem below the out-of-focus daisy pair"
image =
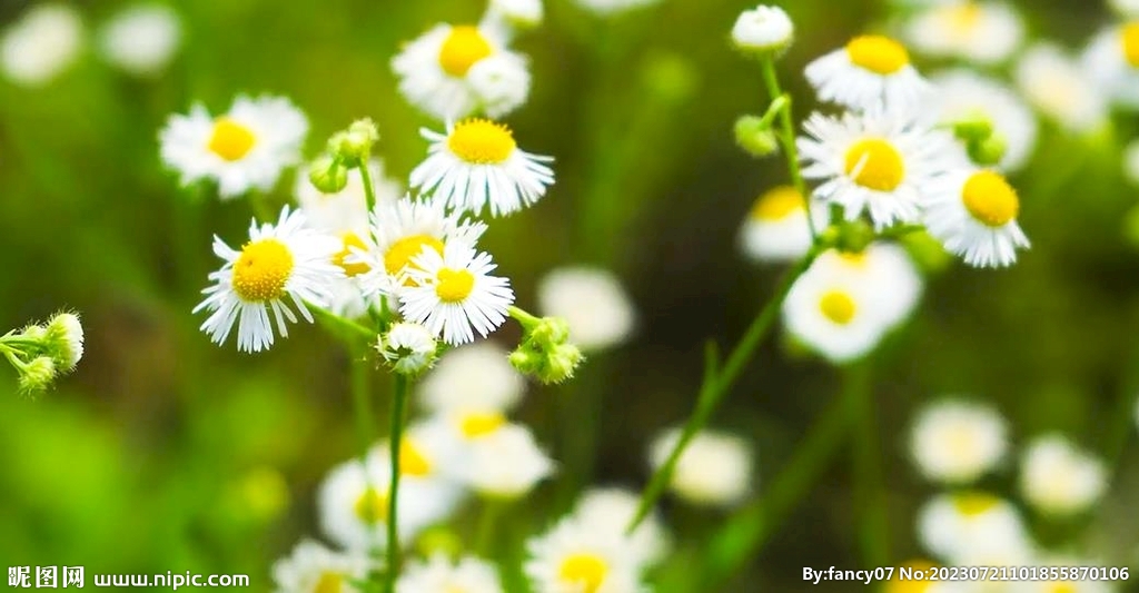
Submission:
POLYGON ((890 555, 890 510, 882 473, 882 451, 875 418, 868 362, 843 370, 843 389, 854 421, 854 508, 859 513, 859 546, 867 567, 885 566, 890 555))

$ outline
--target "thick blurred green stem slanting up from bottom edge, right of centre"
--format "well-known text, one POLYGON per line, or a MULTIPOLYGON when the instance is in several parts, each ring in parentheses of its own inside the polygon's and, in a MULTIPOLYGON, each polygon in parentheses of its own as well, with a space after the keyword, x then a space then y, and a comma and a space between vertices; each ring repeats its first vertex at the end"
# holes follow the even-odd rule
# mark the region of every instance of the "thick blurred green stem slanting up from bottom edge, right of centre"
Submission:
POLYGON ((836 397, 811 426, 790 460, 765 492, 724 521, 712 536, 707 565, 699 579, 703 591, 722 591, 723 580, 753 561, 776 529, 802 503, 811 486, 839 450, 850 426, 851 394, 836 397))

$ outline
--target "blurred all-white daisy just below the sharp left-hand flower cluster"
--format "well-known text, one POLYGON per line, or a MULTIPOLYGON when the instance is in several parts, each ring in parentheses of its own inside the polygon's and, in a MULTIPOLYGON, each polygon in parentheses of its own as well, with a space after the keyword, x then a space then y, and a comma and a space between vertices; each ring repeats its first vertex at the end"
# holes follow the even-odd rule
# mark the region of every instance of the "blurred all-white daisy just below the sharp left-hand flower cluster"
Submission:
POLYGON ((491 341, 454 348, 419 384, 419 401, 428 412, 506 412, 518 404, 526 381, 510 364, 509 353, 491 341))

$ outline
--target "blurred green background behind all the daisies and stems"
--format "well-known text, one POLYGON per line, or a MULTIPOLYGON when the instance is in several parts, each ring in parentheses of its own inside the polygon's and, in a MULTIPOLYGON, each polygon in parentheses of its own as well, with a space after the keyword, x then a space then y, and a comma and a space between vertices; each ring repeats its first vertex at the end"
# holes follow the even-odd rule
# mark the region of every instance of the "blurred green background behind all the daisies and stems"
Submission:
MULTIPOLYGON (((703 343, 732 344, 778 278, 736 248, 753 198, 786 180, 779 158, 756 162, 731 138, 735 118, 767 101, 756 64, 728 42, 736 16, 753 5, 664 0, 603 20, 551 0, 546 23, 516 42, 534 81, 508 122, 522 147, 557 158, 558 183, 536 207, 493 221, 483 247, 524 306, 533 306, 543 272, 591 263, 621 277, 639 319, 634 338, 593 356, 577 382, 531 388, 522 420, 563 472, 527 503, 519 533, 544 529, 583 484, 639 488, 648 440, 691 407, 703 343), (582 419, 596 423, 596 440, 588 428, 566 429, 582 419)), ((0 22, 26 6, 0 3, 0 22)), ((128 3, 74 6, 91 35, 128 3)), ((0 373, 0 563, 248 574, 254 590, 268 590, 271 562, 318 534, 316 486, 354 452, 347 359, 311 327, 255 356, 197 330, 202 316, 190 308, 215 266, 211 236, 239 240, 251 211, 190 201, 159 165, 157 132, 194 101, 220 112, 238 92, 282 93, 310 117, 309 156, 370 116, 390 174, 405 179, 425 155, 418 129, 431 122, 399 96, 388 60, 401 41, 436 22, 474 22, 484 5, 172 6, 185 40, 161 77, 126 76, 88 47, 43 88, 0 81, 0 324, 71 307, 88 335, 76 373, 38 401, 17 396, 14 373, 0 373)), ((802 117, 813 101, 802 67, 890 9, 869 0, 786 8, 797 39, 780 71, 802 117)), ((1071 47, 1108 20, 1106 9, 1080 0, 1019 8, 1033 35, 1071 47)), ((933 493, 906 458, 904 430, 924 401, 944 394, 994 402, 1022 443, 1062 430, 1117 459, 1107 501, 1088 526, 1071 529, 1108 566, 1139 563, 1139 253, 1123 223, 1137 191, 1122 176, 1117 146, 1139 126, 1117 124, 1099 143, 1046 129, 1033 164, 1014 180, 1033 249, 1008 271, 954 264, 931 278, 916 319, 875 357, 895 563, 920 553, 913 514, 933 493), (1052 179, 1057 163, 1073 159, 1070 175, 1052 179)), ((289 176, 274 199, 284 203, 292 187, 289 176)), ((508 326, 495 339, 510 347, 517 337, 508 326)), ((837 389, 835 371, 769 340, 714 426, 754 443, 762 492, 837 389)), ((835 456, 724 591, 805 591, 804 566, 858 567, 850 467, 835 456)), ((1011 492, 1011 476, 992 487, 1011 492)), ((681 534, 677 566, 729 517, 671 501, 664 511, 681 534)))

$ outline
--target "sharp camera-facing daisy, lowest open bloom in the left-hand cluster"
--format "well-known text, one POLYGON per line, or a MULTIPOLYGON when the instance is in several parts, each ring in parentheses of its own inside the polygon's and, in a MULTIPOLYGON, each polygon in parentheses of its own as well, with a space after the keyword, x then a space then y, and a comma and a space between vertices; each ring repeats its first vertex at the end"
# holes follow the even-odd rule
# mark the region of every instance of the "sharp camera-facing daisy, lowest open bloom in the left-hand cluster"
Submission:
POLYGON ((506 321, 514 291, 485 253, 452 241, 443 253, 425 248, 407 267, 411 286, 400 289, 404 319, 423 323, 443 341, 459 346, 486 337, 506 321))

